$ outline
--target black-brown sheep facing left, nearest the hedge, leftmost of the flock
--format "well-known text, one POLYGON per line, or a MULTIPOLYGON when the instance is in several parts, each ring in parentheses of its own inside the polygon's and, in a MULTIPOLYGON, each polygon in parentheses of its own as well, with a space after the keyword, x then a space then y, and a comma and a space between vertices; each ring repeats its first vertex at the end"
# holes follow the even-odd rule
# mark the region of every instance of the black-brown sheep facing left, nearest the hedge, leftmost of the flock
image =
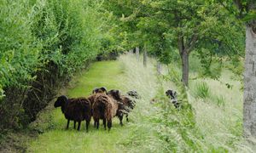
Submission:
POLYGON ((80 130, 80 125, 82 121, 86 121, 86 131, 88 132, 88 127, 91 118, 91 105, 90 100, 86 98, 73 98, 67 99, 65 95, 61 95, 55 101, 55 108, 61 107, 62 113, 67 119, 67 128, 69 126, 70 120, 74 122, 73 127, 76 127, 76 122, 79 122, 78 130, 80 130))

